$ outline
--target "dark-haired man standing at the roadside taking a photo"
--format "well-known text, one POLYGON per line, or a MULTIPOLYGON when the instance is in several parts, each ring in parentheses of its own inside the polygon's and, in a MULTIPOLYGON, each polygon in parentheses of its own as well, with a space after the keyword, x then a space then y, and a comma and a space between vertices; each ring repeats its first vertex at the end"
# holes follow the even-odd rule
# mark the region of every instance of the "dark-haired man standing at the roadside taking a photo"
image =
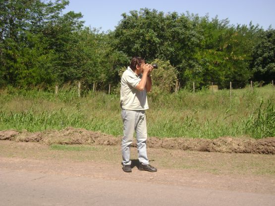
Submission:
POLYGON ((146 151, 147 126, 145 110, 149 108, 147 92, 151 91, 150 76, 153 66, 146 64, 141 57, 133 57, 130 66, 121 77, 120 105, 123 120, 122 169, 132 172, 130 147, 136 131, 139 170, 156 172, 157 168, 149 164, 146 151))

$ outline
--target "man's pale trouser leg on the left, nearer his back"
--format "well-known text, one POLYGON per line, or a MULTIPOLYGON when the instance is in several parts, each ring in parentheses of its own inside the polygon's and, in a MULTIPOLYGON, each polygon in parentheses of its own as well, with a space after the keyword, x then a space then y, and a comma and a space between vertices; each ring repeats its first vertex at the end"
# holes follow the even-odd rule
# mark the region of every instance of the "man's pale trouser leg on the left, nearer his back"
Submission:
POLYGON ((133 142, 136 111, 122 109, 121 116, 123 121, 123 138, 122 138, 122 164, 131 165, 130 147, 133 142))

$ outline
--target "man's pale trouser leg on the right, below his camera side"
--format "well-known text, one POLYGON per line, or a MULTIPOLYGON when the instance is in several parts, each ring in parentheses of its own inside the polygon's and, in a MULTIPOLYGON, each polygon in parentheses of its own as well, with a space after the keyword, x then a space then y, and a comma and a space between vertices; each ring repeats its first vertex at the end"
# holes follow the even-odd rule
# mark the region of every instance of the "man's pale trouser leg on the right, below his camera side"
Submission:
POLYGON ((145 111, 141 110, 138 113, 138 119, 136 122, 136 134, 137 134, 137 149, 138 160, 141 164, 149 164, 146 151, 147 141, 147 125, 145 111))

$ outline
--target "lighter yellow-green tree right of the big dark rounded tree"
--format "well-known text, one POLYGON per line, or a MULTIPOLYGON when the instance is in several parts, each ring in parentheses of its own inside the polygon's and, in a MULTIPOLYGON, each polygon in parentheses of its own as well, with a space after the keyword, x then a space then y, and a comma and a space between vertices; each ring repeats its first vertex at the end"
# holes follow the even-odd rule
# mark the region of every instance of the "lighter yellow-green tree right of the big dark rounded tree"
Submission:
POLYGON ((245 85, 251 76, 248 66, 253 41, 260 31, 258 26, 235 27, 229 25, 227 19, 216 17, 210 21, 208 16, 193 18, 192 21, 198 25, 203 41, 194 53, 198 65, 184 72, 186 84, 191 86, 195 81, 200 87, 214 82, 225 88, 233 81, 245 85))

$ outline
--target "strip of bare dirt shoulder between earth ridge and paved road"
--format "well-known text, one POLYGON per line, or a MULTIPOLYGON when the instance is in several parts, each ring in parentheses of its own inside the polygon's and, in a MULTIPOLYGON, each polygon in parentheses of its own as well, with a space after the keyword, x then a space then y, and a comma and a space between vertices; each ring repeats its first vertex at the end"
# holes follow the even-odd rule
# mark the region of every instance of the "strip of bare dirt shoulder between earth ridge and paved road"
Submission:
POLYGON ((275 194, 274 155, 148 148, 150 164, 158 168, 158 172, 150 173, 137 169, 137 151, 132 148, 133 171, 125 173, 119 146, 79 147, 89 150, 55 150, 34 142, 0 141, 0 170, 275 194))

